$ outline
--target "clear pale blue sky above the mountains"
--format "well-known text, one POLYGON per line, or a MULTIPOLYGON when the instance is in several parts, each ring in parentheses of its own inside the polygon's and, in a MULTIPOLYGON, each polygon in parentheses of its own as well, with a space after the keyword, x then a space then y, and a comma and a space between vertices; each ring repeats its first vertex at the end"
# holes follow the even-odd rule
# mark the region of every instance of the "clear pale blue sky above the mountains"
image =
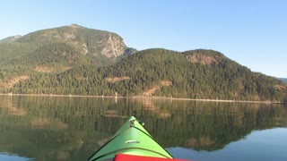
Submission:
POLYGON ((285 0, 9 0, 0 39, 76 23, 128 47, 213 49, 254 72, 287 78, 285 0))

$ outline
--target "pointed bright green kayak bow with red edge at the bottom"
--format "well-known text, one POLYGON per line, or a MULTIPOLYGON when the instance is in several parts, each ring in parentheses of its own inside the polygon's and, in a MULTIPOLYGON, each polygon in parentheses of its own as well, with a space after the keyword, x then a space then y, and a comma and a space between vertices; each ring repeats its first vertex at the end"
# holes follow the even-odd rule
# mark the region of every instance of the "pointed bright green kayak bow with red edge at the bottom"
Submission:
MULTIPOLYGON (((134 157, 143 157, 145 160, 173 159, 168 151, 152 139, 152 136, 145 131, 134 116, 131 116, 116 134, 88 160, 115 160, 117 156, 123 157, 122 160, 134 160, 134 157)), ((136 158, 136 160, 144 159, 136 158)))

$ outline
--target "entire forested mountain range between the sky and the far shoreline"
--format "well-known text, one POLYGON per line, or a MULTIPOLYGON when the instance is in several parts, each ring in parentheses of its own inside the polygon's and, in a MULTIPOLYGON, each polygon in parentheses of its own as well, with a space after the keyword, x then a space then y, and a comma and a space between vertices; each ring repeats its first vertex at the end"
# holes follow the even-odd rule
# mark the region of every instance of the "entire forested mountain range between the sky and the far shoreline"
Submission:
POLYGON ((136 52, 117 34, 79 25, 32 32, 0 49, 0 93, 287 100, 281 80, 220 52, 136 52))

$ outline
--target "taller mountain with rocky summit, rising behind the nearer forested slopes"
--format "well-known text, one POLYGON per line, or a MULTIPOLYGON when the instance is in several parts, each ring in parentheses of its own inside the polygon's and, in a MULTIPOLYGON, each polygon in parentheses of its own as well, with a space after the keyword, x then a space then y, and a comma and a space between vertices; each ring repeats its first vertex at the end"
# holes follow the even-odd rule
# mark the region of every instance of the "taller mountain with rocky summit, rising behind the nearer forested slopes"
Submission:
POLYGON ((76 24, 0 42, 0 83, 20 73, 65 72, 83 64, 113 64, 117 58, 136 52, 115 33, 76 24))

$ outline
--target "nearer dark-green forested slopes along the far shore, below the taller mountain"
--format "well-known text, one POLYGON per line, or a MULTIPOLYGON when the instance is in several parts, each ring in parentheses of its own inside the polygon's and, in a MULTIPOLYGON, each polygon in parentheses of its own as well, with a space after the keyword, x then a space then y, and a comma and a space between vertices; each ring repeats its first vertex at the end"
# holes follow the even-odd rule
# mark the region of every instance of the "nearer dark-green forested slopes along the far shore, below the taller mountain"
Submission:
POLYGON ((100 96, 117 92, 119 96, 131 97, 153 88, 149 96, 271 101, 286 101, 287 93, 282 81, 251 72, 218 52, 202 49, 185 53, 149 49, 109 66, 77 64, 61 73, 30 69, 28 75, 29 80, 1 92, 100 96), (193 55, 212 56, 213 62, 188 61, 187 57, 193 55), (107 80, 124 77, 128 79, 107 80))

